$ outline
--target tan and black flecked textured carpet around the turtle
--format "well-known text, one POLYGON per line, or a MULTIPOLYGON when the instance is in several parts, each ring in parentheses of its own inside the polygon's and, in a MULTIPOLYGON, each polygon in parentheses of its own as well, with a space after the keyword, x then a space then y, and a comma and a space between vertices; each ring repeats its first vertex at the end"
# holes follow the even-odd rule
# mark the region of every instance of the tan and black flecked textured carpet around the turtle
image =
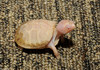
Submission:
POLYGON ((0 0, 0 70, 100 70, 100 0, 0 0), (17 47, 15 30, 23 22, 75 21, 76 29, 52 50, 17 47))

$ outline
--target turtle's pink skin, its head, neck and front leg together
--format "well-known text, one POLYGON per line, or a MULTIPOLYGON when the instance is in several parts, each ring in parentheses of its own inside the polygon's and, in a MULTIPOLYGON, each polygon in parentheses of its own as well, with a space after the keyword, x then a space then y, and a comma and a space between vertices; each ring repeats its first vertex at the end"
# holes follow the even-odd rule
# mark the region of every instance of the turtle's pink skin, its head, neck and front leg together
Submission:
POLYGON ((56 58, 59 58, 59 53, 54 45, 55 39, 59 39, 60 36, 71 32, 75 28, 75 24, 70 20, 62 20, 58 23, 56 30, 54 32, 53 38, 48 44, 48 48, 52 49, 56 58))

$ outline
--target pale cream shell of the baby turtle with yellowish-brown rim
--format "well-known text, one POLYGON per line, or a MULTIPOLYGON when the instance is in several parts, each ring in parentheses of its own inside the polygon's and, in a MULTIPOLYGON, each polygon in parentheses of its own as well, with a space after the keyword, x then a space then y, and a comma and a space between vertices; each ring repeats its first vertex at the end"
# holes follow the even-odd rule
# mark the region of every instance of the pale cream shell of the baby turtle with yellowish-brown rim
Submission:
POLYGON ((22 24, 16 31, 15 41, 23 48, 42 49, 52 39, 55 21, 31 20, 22 24))

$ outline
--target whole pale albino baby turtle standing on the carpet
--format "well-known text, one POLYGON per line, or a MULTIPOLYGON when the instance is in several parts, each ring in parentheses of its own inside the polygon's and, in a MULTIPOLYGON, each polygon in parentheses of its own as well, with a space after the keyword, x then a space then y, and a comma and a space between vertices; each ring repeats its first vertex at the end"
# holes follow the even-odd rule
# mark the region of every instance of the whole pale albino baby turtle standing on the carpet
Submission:
POLYGON ((15 41, 20 47, 26 49, 50 48, 58 58, 59 53, 55 45, 57 45, 59 37, 74 28, 74 22, 70 20, 62 20, 57 26, 55 21, 31 20, 17 29, 15 41))

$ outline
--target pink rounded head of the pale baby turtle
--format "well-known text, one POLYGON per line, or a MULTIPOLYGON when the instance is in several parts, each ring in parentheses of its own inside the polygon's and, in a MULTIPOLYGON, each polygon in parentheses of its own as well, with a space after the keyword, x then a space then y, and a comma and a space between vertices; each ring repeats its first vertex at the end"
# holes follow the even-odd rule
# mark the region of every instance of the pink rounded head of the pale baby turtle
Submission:
POLYGON ((61 20, 56 28, 60 34, 67 34, 75 28, 75 24, 70 20, 61 20))

